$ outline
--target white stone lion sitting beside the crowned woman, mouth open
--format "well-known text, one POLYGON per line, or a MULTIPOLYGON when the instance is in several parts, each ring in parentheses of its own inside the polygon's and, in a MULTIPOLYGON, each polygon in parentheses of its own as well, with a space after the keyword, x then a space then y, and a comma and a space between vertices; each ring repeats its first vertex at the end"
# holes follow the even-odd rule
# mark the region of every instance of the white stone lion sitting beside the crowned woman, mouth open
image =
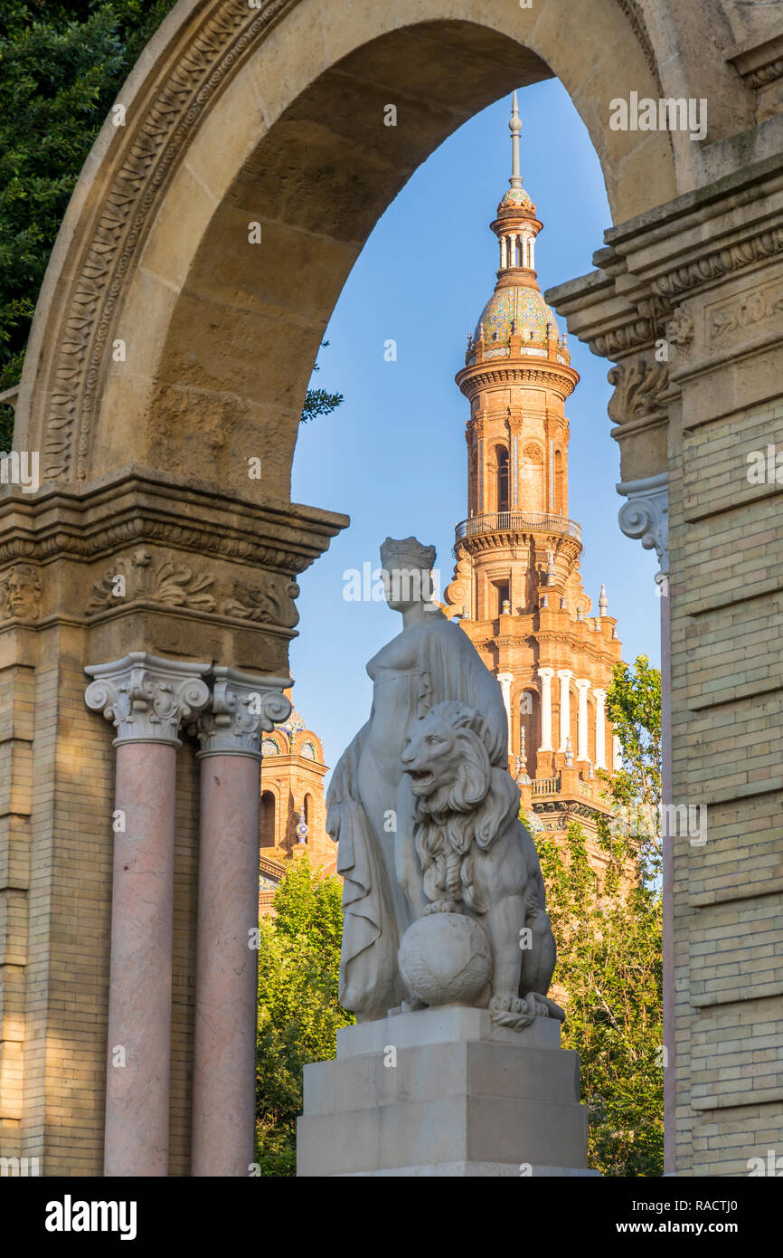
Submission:
MULTIPOLYGON (((566 1016, 547 998, 557 959, 544 881, 519 790, 491 764, 485 721, 446 701, 411 722, 401 757, 413 795, 412 834, 400 834, 397 877, 413 921, 436 912, 480 922, 490 981, 476 1001, 515 1030, 535 1016, 566 1016)), ((411 996, 403 1008, 420 1008, 411 996)))

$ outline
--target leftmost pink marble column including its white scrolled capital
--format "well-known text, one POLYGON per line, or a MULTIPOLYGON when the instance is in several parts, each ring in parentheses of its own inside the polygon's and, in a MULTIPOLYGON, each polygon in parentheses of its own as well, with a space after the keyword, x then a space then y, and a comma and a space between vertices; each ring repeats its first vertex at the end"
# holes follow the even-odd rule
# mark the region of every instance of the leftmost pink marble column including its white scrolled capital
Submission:
POLYGON ((88 707, 118 737, 104 1175, 166 1175, 177 731, 209 698, 201 674, 133 652, 90 665, 88 707))

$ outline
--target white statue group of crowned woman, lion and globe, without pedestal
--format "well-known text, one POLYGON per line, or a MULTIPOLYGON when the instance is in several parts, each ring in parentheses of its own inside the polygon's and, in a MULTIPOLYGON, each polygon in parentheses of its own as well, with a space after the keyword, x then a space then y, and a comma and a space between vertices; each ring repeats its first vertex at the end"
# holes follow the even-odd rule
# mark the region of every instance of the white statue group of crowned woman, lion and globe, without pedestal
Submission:
POLYGON ((381 561, 402 633, 367 665, 372 712, 327 796, 344 877, 341 1001, 359 1021, 452 1001, 514 1029, 562 1018, 500 688, 430 601, 434 547, 387 538, 381 561))

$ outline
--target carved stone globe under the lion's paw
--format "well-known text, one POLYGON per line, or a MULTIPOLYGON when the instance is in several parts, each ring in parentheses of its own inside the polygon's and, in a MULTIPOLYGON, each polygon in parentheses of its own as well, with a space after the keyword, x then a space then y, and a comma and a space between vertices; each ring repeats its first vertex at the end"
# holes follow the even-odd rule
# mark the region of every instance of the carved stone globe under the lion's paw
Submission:
POLYGON ((397 960, 408 990, 427 1005, 470 1004, 491 969, 486 932, 464 913, 420 917, 402 936, 397 960))

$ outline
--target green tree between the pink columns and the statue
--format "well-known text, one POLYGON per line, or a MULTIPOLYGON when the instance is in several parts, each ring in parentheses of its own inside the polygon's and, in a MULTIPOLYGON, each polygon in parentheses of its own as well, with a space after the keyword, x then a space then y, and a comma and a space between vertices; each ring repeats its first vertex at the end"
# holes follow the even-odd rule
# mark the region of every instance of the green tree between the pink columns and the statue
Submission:
POLYGON ((260 923, 255 1157, 261 1175, 295 1175, 302 1068, 333 1058, 338 1029, 354 1020, 337 998, 341 898, 339 879, 319 876, 304 857, 274 897, 277 918, 260 923))

